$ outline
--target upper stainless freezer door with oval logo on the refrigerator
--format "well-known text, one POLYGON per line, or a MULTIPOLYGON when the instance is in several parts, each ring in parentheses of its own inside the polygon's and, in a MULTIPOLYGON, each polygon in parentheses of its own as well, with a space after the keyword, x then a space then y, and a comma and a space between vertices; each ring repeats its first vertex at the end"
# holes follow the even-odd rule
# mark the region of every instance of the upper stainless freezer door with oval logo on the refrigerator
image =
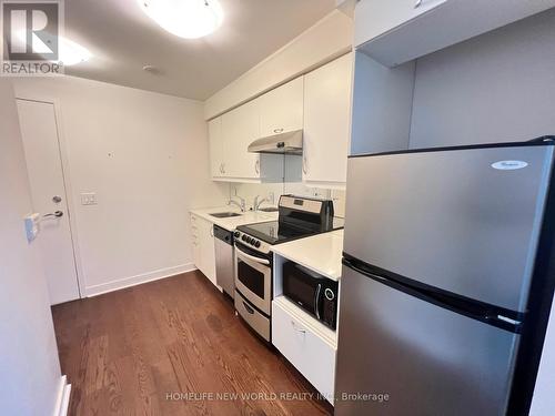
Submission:
POLYGON ((553 146, 351 158, 344 251, 522 312, 552 158, 553 146))

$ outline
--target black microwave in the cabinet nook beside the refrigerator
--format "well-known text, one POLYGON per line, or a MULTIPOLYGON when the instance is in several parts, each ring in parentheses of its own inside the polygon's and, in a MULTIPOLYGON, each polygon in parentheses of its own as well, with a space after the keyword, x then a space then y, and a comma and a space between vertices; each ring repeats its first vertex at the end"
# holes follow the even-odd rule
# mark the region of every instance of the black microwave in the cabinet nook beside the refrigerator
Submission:
POLYGON ((283 264, 283 295, 324 325, 337 324, 339 284, 293 262, 283 264))

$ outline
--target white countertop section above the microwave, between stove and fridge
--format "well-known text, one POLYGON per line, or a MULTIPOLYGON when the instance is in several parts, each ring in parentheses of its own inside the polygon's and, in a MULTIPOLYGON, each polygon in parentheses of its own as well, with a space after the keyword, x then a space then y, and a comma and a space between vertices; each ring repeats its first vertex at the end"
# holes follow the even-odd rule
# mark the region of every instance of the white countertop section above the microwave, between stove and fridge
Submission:
POLYGON ((272 251, 325 277, 341 278, 343 230, 278 244, 272 251))

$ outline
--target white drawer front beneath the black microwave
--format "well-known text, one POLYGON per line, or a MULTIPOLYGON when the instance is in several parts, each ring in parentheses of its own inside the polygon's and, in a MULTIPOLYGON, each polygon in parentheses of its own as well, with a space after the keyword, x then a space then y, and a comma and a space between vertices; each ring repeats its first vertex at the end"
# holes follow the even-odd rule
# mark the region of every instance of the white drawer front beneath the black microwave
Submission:
POLYGON ((333 405, 337 346, 327 332, 283 296, 272 302, 272 343, 333 405))

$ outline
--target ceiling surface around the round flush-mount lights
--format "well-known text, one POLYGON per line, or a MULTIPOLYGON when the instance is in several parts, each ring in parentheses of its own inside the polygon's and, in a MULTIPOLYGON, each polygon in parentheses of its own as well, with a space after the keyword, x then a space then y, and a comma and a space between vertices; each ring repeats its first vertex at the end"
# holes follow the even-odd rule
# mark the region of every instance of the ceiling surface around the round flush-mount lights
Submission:
POLYGON ((220 0, 220 29, 188 40, 161 29, 137 1, 65 0, 65 35, 93 54, 67 74, 205 100, 335 8, 335 0, 220 0))

